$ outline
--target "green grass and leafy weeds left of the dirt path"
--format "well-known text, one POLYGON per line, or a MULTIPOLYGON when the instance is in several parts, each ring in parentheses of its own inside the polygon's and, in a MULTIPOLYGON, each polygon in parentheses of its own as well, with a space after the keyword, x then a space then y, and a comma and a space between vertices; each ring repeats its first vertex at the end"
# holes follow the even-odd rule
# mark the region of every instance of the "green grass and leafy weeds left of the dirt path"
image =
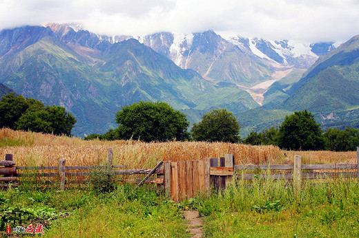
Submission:
POLYGON ((146 187, 134 191, 122 184, 104 194, 19 187, 0 192, 0 198, 6 201, 0 216, 10 219, 7 224, 43 224, 46 237, 188 237, 179 208, 146 187), (13 208, 22 211, 23 224, 11 220, 13 208))

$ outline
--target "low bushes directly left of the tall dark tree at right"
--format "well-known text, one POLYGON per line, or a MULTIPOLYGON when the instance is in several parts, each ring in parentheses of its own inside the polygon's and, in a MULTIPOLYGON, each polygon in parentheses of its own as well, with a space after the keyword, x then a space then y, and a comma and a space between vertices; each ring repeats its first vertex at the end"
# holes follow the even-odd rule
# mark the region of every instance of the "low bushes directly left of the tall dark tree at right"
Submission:
POLYGON ((278 129, 271 127, 269 129, 266 129, 265 131, 262 131, 258 133, 257 131, 251 131, 249 136, 246 137, 244 140, 244 144, 252 144, 252 145, 268 145, 273 144, 276 145, 277 142, 277 134, 278 129))

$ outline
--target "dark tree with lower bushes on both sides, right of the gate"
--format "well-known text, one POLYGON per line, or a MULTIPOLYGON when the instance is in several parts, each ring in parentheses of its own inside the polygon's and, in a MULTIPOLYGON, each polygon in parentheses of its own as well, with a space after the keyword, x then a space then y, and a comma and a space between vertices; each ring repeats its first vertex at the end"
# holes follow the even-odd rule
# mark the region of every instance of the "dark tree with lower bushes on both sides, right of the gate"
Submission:
POLYGON ((359 146, 359 129, 328 129, 322 133, 310 112, 295 111, 291 116, 286 116, 279 129, 271 127, 260 133, 252 131, 244 143, 273 144, 282 149, 304 151, 356 151, 359 146))

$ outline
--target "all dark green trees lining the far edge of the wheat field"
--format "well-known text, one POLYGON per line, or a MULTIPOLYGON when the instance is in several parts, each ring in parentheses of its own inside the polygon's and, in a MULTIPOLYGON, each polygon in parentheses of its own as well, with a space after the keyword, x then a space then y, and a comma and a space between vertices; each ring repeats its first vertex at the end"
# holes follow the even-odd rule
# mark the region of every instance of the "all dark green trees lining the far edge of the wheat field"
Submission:
MULTIPOLYGON (((75 118, 64 107, 44 106, 39 100, 8 94, 0 100, 0 128, 22 129, 55 135, 70 136, 75 118)), ((117 111, 116 129, 104 135, 92 134, 86 140, 196 140, 244 142, 253 145, 277 145, 291 150, 353 151, 359 145, 359 130, 329 129, 322 133, 320 125, 307 111, 295 111, 286 116, 279 128, 271 127, 260 133, 252 131, 241 140, 240 125, 226 109, 213 109, 204 114, 188 132, 189 122, 184 113, 173 109, 166 102, 137 102, 117 111)))

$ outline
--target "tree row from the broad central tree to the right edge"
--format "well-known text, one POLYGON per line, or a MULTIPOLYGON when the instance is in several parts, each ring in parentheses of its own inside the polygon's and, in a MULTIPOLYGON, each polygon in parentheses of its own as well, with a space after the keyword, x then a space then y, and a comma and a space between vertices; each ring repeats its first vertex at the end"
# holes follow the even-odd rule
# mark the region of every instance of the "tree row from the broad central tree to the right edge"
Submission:
POLYGON ((239 136, 237 119, 226 109, 213 109, 204 114, 202 120, 193 125, 191 134, 187 132, 189 122, 186 115, 166 102, 138 102, 123 107, 116 113, 116 122, 119 125, 117 129, 111 129, 104 135, 92 134, 85 139, 244 142, 253 145, 273 144, 291 150, 331 151, 352 151, 359 145, 358 129, 329 129, 322 133, 320 125, 307 110, 286 116, 279 129, 271 127, 260 133, 252 131, 243 141, 239 136))

